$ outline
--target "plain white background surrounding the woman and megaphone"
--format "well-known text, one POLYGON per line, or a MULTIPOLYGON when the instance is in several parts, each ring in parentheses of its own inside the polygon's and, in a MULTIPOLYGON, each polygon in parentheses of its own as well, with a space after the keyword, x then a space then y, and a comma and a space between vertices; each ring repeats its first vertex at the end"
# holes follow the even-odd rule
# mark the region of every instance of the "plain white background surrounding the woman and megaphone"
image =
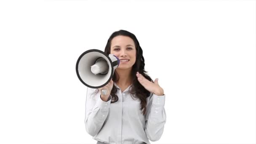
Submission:
POLYGON ((120 29, 166 95, 152 144, 256 143, 255 0, 1 1, 0 143, 96 144, 75 64, 120 29))

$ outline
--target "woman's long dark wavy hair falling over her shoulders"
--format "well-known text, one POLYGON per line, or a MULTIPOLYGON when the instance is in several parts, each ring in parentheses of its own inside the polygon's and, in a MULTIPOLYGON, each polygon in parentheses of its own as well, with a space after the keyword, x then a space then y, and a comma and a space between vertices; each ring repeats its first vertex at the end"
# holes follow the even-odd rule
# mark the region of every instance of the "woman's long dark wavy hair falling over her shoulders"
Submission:
MULTIPOLYGON (((131 69, 132 87, 130 87, 131 90, 129 90, 129 91, 131 92, 132 96, 139 98, 141 100, 141 110, 143 109, 143 115, 144 115, 147 111, 147 109, 146 109, 147 97, 150 96, 150 92, 147 91, 139 83, 139 81, 136 77, 136 72, 139 72, 141 75, 143 75, 147 80, 149 80, 151 82, 153 82, 153 80, 147 74, 145 74, 145 72, 146 72, 144 69, 145 62, 144 62, 144 57, 142 55, 143 51, 141 49, 141 46, 139 45, 139 41, 137 40, 136 36, 126 30, 119 30, 117 32, 114 32, 107 40, 107 45, 105 47, 104 52, 106 54, 110 54, 111 41, 114 37, 119 36, 119 35, 130 37, 133 40, 135 47, 136 47, 136 61, 135 61, 135 64, 133 64, 133 67, 131 69)), ((117 82, 119 80, 119 75, 117 74, 116 71, 114 72, 112 80, 114 82, 117 82)), ((116 95, 116 93, 117 93, 117 87, 115 87, 115 85, 113 85, 112 91, 110 93, 110 95, 112 96, 111 103, 115 103, 118 101, 118 96, 116 95)))

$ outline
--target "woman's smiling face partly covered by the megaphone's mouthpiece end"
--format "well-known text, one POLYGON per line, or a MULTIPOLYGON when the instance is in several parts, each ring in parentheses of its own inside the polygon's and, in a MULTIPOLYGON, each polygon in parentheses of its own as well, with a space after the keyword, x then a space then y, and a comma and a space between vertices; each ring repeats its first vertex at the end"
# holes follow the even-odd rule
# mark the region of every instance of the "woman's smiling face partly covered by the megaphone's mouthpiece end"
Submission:
POLYGON ((136 61, 136 48, 133 39, 127 36, 116 36, 111 41, 110 53, 120 59, 117 69, 131 69, 136 61))

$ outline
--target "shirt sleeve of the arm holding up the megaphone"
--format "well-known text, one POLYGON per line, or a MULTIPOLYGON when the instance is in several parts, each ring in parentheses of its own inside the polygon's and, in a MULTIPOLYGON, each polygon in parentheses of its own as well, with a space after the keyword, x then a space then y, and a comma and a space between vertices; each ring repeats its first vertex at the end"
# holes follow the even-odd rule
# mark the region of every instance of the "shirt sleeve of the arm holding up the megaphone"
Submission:
POLYGON ((109 113, 112 96, 107 102, 100 98, 100 91, 94 93, 96 89, 87 88, 85 102, 85 128, 91 136, 96 136, 101 130, 109 113))

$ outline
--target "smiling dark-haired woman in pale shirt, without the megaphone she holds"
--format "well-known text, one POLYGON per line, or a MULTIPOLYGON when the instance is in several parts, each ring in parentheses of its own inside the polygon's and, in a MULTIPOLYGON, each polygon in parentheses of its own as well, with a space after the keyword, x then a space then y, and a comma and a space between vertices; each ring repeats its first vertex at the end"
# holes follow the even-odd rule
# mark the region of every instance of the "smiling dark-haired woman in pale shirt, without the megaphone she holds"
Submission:
POLYGON ((107 41, 105 53, 120 64, 102 88, 88 88, 86 131, 97 144, 150 144, 160 139, 165 121, 163 88, 145 74, 142 49, 135 35, 120 30, 107 41), (101 93, 107 89, 106 95, 101 93))

